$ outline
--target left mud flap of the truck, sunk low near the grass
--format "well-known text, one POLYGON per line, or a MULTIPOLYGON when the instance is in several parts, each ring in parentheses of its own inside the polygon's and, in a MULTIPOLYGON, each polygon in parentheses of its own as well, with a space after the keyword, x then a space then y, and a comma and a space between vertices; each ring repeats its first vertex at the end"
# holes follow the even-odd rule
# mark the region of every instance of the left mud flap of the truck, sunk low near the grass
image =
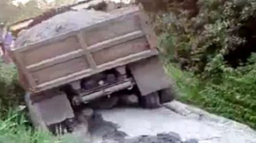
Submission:
POLYGON ((70 102, 64 93, 35 103, 32 103, 30 96, 27 93, 25 101, 32 123, 37 128, 47 130, 47 126, 50 124, 60 123, 75 117, 70 102))

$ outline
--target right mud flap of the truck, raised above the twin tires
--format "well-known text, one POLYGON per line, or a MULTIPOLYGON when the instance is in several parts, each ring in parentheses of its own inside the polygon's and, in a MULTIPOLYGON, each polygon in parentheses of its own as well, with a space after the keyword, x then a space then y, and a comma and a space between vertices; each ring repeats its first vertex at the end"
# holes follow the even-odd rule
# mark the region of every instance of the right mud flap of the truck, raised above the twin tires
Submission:
POLYGON ((141 95, 148 95, 170 86, 163 65, 153 56, 129 65, 141 95))

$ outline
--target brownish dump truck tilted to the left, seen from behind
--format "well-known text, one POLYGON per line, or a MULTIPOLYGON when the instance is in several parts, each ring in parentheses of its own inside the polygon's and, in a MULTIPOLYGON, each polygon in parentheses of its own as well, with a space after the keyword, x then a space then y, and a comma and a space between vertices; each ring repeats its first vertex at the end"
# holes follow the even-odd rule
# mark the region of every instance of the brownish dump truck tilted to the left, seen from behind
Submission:
MULTIPOLYGON (((55 27, 61 31, 62 26, 55 27)), ((174 99, 158 57, 156 35, 139 7, 114 10, 104 20, 46 36, 9 51, 37 127, 49 129, 75 118, 79 105, 121 93, 137 95, 144 108, 174 99)))

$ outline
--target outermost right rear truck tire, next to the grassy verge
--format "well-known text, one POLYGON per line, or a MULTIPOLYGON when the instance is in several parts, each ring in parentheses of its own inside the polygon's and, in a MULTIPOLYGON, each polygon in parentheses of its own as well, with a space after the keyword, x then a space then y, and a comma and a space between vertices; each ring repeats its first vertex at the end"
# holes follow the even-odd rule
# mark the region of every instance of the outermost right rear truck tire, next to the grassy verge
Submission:
POLYGON ((174 89, 167 88, 159 91, 160 104, 165 104, 167 102, 171 102, 175 99, 175 91, 174 89))

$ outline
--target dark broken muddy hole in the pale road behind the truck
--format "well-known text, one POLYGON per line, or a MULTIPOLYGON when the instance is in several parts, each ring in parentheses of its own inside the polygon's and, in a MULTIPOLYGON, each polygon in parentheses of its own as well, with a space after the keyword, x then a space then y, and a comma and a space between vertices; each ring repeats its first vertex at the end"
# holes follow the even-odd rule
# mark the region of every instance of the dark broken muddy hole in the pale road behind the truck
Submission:
POLYGON ((104 141, 115 141, 115 143, 198 143, 197 140, 182 142, 180 135, 175 132, 159 133, 156 136, 141 135, 136 138, 126 139, 127 135, 118 130, 117 124, 105 121, 102 115, 95 113, 93 123, 90 125, 92 136, 102 136, 104 141))

